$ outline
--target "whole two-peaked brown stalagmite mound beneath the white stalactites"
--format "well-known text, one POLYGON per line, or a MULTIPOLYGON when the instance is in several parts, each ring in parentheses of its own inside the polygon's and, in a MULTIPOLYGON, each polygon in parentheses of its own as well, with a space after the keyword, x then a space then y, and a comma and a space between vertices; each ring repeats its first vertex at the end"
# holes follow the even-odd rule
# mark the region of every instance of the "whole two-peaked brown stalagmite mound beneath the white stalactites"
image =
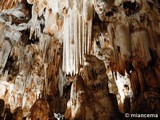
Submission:
POLYGON ((118 119, 116 98, 109 95, 108 77, 104 62, 86 55, 81 76, 72 83, 65 118, 69 120, 118 119))

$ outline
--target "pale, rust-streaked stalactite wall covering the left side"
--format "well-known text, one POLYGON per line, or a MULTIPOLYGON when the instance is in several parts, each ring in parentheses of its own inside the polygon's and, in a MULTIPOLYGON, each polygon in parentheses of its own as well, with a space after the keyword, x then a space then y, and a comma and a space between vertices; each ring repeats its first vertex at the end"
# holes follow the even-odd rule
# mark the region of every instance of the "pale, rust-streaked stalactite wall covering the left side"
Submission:
POLYGON ((30 38, 26 1, 1 1, 0 6, 0 98, 26 116, 37 99, 63 94, 62 43, 45 33, 30 38))

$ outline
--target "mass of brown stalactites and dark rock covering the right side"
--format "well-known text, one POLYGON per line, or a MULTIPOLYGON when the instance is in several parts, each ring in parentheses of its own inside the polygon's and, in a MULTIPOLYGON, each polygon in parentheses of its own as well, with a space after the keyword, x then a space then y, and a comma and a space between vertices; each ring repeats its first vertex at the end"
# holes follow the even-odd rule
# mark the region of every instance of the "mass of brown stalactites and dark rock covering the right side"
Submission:
POLYGON ((95 8, 101 25, 95 24, 93 53, 98 58, 107 58, 106 64, 115 76, 124 76, 125 72, 129 75, 133 92, 131 112, 159 113, 159 106, 151 107, 149 102, 154 100, 156 106, 159 101, 158 1, 97 0, 95 8), (143 100, 148 104, 144 105, 143 100), (146 109, 138 109, 137 105, 146 109))

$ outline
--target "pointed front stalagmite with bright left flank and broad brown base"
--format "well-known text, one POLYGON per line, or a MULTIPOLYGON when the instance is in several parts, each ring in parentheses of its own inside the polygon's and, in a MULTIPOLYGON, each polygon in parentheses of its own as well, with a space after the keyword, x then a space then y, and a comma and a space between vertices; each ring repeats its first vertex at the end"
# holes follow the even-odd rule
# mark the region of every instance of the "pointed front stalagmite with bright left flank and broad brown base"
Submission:
POLYGON ((66 119, 110 120, 118 118, 110 96, 106 92, 102 92, 101 85, 96 87, 95 91, 94 88, 86 85, 81 76, 76 77, 72 83, 70 100, 67 103, 66 119))

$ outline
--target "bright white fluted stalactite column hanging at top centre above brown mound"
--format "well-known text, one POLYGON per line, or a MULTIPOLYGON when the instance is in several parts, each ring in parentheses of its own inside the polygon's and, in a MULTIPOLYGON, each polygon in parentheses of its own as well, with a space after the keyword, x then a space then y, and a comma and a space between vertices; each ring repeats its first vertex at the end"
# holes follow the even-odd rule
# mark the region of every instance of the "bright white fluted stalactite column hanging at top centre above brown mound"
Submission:
POLYGON ((64 18, 62 68, 67 74, 77 74, 84 54, 90 52, 93 9, 88 9, 92 8, 89 1, 83 2, 83 7, 74 2, 64 18))

